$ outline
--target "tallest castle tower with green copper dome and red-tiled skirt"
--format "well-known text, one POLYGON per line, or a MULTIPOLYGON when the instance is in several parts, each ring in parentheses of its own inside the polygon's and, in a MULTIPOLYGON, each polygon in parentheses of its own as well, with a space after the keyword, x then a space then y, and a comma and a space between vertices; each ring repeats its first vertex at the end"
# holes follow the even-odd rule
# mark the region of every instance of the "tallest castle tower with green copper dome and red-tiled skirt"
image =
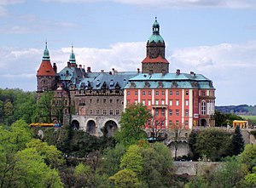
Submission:
POLYGON ((160 25, 155 17, 153 33, 148 38, 147 56, 142 62, 143 73, 168 73, 169 62, 166 60, 166 44, 160 36, 160 25))

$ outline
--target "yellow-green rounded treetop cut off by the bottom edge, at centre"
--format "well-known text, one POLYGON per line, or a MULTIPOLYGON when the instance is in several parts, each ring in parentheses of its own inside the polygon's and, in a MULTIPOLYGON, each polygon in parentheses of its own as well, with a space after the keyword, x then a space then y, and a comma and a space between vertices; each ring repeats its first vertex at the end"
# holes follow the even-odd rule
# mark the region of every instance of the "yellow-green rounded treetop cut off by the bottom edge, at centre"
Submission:
POLYGON ((131 169, 122 169, 117 174, 111 176, 110 181, 113 182, 115 188, 140 188, 142 187, 137 174, 131 169))

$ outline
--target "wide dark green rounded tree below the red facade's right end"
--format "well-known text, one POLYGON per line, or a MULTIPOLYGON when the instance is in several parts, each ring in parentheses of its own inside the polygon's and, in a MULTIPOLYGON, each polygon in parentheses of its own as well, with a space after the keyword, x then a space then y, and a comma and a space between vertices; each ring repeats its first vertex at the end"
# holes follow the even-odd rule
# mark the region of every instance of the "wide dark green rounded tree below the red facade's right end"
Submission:
POLYGON ((197 134, 196 139, 191 137, 190 141, 192 143, 189 145, 195 156, 205 155, 212 161, 219 161, 222 157, 230 155, 230 134, 217 128, 204 129, 197 134))

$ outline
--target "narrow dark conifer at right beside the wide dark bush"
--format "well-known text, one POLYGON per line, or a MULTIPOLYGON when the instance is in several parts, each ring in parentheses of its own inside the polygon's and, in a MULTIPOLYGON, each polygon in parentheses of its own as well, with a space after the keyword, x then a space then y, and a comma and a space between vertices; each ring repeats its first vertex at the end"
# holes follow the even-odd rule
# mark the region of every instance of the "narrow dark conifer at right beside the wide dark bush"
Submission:
POLYGON ((231 140, 231 154, 238 155, 243 151, 244 141, 241 135, 241 129, 239 126, 236 126, 235 134, 232 136, 231 140))

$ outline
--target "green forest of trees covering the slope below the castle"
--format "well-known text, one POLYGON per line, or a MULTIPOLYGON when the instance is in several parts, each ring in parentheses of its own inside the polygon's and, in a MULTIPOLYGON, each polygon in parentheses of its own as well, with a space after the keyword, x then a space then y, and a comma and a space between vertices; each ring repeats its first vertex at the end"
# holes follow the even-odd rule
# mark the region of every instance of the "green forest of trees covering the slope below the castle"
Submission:
POLYGON ((0 100, 1 188, 256 186, 256 145, 244 145, 239 128, 235 133, 193 130, 188 158, 224 165, 189 177, 175 174, 172 151, 166 145, 146 140, 143 125, 150 114, 141 104, 125 110, 112 138, 97 138, 69 125, 29 127, 30 122, 49 117, 35 93, 0 89, 0 100))

